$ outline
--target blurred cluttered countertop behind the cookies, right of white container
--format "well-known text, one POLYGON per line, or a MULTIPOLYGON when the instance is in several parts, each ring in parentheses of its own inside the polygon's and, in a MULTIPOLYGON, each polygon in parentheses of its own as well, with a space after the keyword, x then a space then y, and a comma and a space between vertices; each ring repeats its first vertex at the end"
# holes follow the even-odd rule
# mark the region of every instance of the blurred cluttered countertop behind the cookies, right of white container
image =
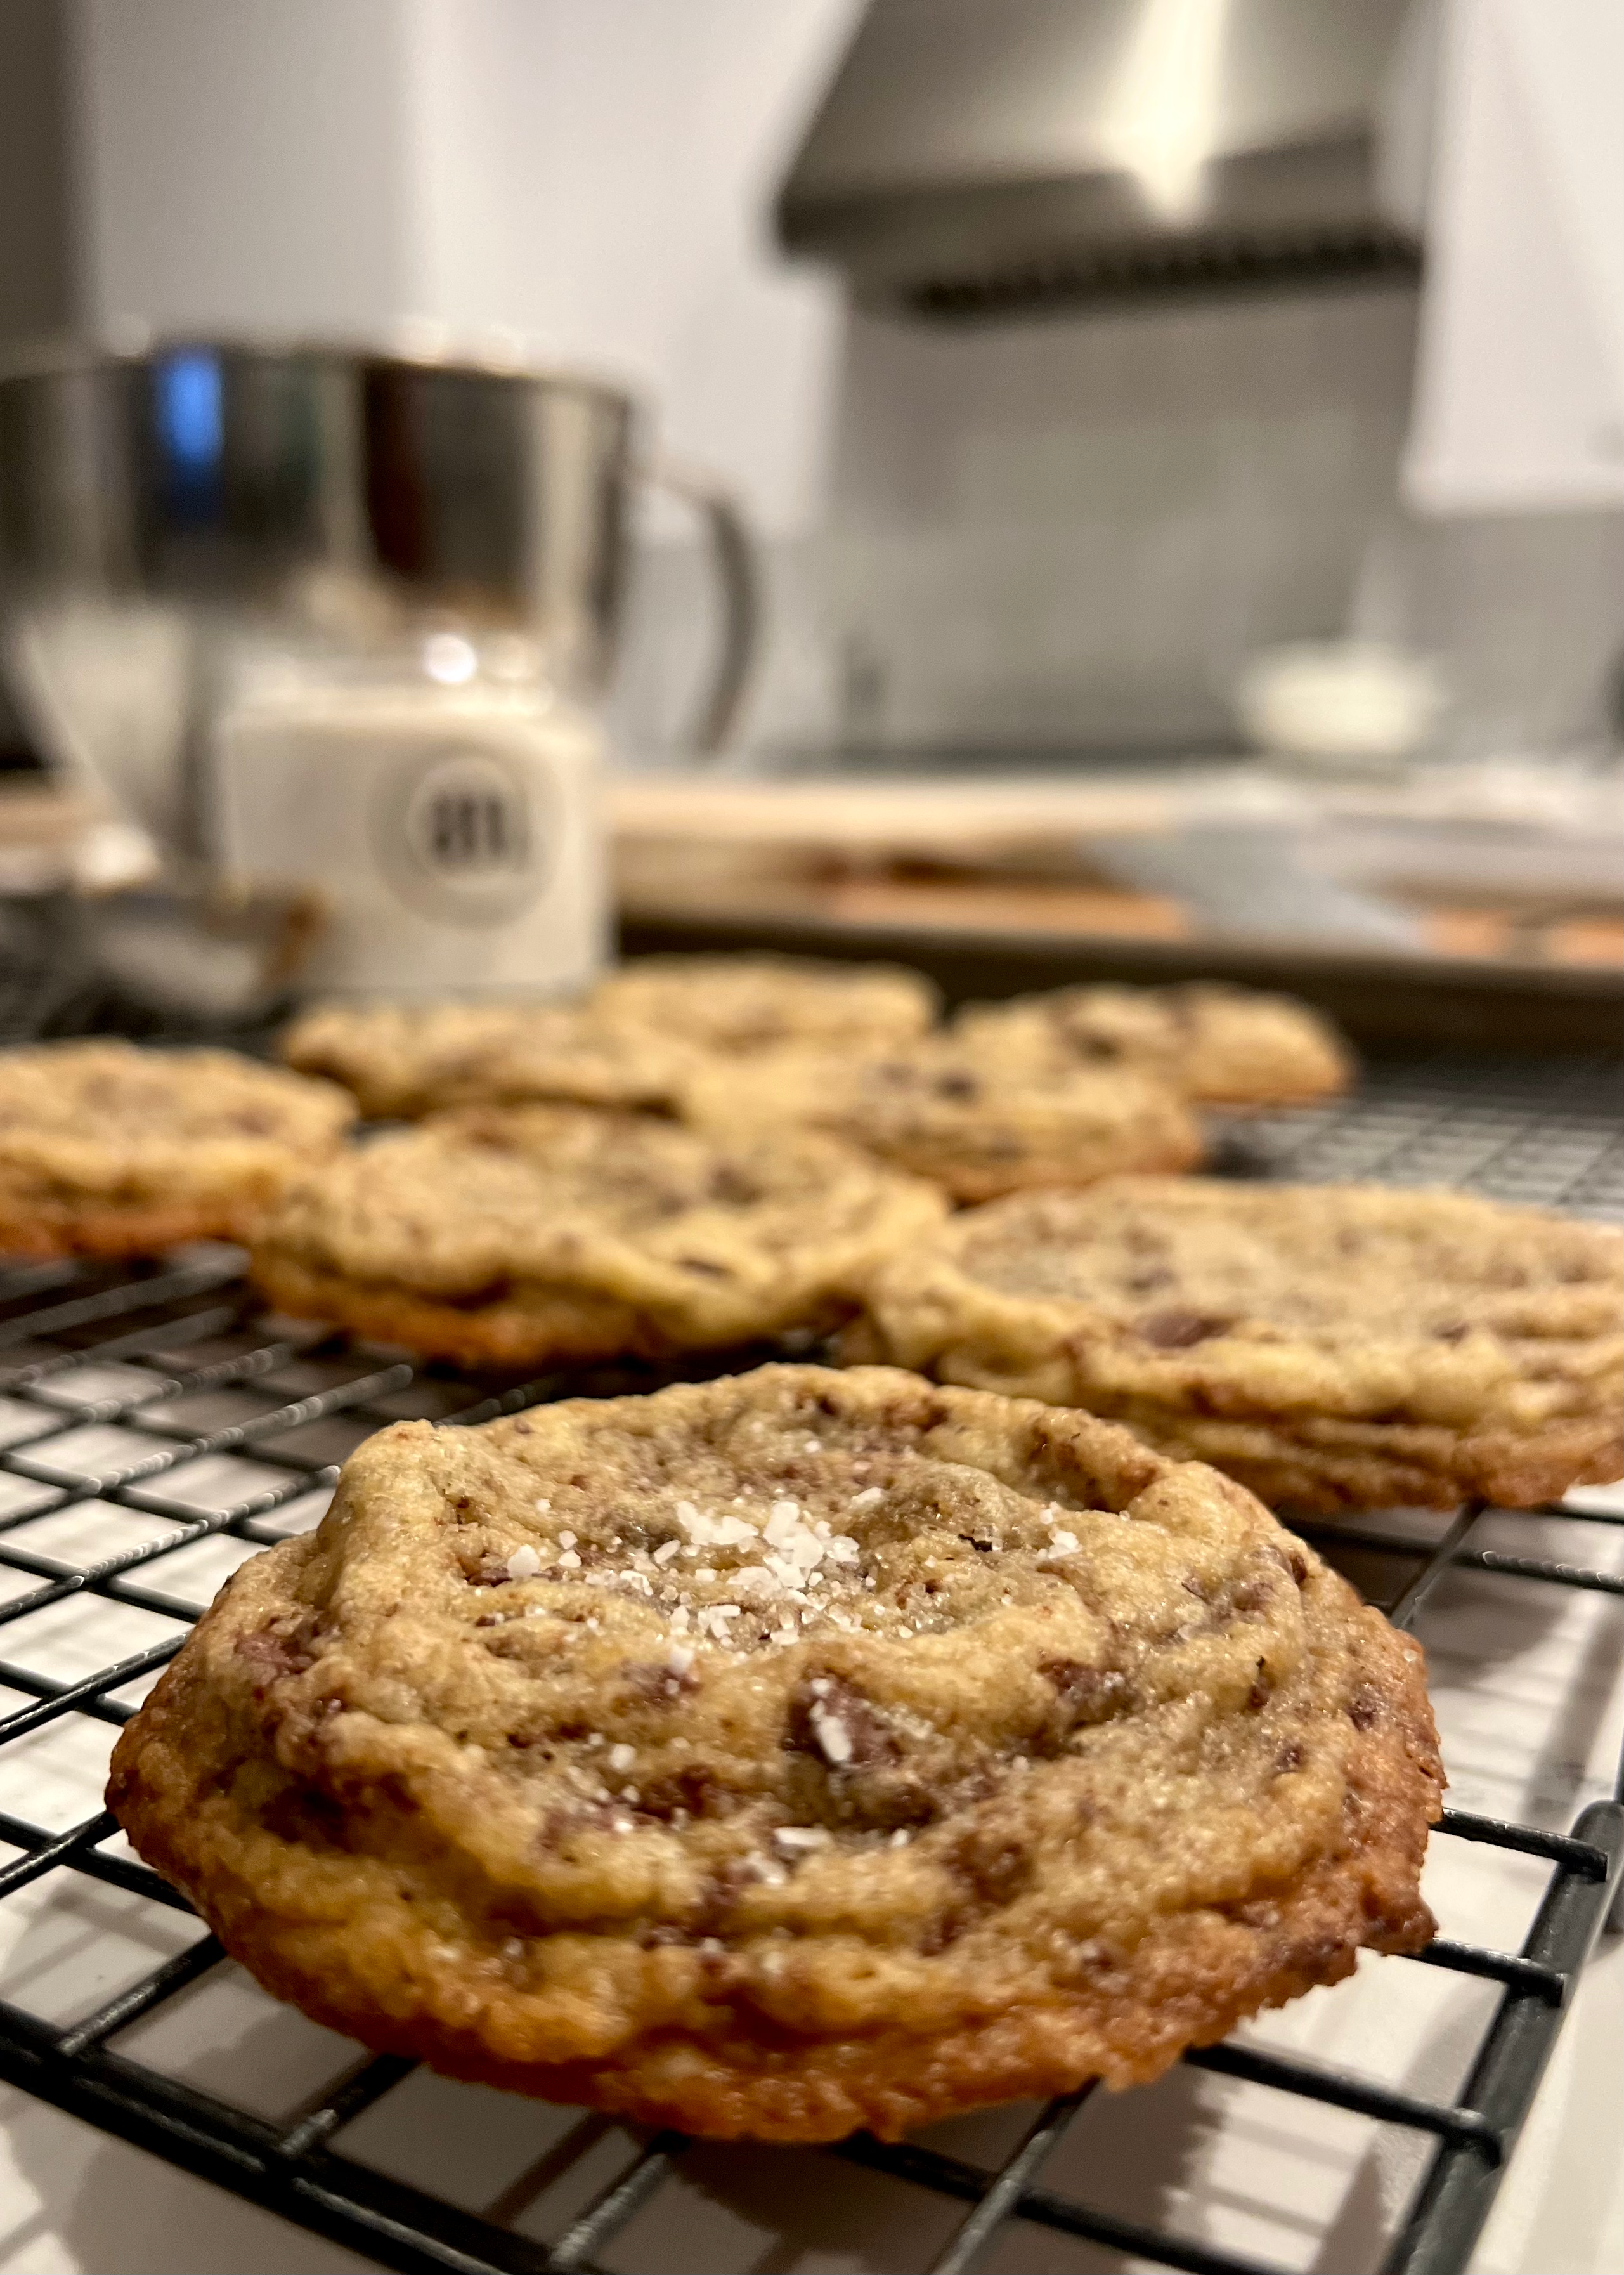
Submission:
POLYGON ((1256 921, 1269 878, 1303 869, 1308 892, 1287 905, 1306 910, 1308 949, 1337 937, 1335 917, 1347 937, 1408 937, 1437 958, 1624 962, 1610 776, 1556 762, 1367 783, 1233 760, 621 774, 610 824, 621 910, 637 924, 810 919, 1199 944, 1256 921), (1235 905, 1203 908, 1201 890, 1237 858, 1249 876, 1235 905))

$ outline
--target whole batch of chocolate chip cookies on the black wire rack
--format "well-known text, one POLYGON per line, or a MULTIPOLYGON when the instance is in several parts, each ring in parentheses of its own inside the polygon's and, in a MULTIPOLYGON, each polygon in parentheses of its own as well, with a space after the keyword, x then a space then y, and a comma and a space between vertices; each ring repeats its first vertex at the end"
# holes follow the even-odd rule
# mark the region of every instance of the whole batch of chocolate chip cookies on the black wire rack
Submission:
POLYGON ((837 1365, 398 1424, 243 1565, 109 1804, 271 1991, 823 2141, 1128 2086, 1426 1943, 1419 1649, 1271 1511, 1615 1476, 1613 1231, 1185 1174, 1205 1108, 1353 1078, 1240 990, 942 1024, 910 971, 651 960, 284 1058, 14 1053, 0 1238, 241 1238, 464 1367, 837 1365))

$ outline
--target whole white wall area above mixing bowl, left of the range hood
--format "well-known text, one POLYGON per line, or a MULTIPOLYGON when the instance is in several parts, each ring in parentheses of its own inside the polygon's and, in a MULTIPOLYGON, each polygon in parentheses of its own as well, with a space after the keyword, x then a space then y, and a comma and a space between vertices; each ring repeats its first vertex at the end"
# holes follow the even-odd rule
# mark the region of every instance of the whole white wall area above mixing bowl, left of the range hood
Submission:
POLYGON ((857 0, 75 0, 89 316, 444 325, 628 380, 769 532, 839 312, 767 202, 857 0))

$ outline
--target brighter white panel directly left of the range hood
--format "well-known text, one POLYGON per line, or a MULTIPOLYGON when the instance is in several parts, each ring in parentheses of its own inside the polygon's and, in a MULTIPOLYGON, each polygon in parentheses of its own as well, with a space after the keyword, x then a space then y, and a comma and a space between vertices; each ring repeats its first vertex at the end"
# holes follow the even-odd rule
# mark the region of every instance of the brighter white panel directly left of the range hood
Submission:
POLYGON ((419 303, 628 378, 769 532, 819 510, 839 303, 767 239, 857 0, 414 0, 419 303))

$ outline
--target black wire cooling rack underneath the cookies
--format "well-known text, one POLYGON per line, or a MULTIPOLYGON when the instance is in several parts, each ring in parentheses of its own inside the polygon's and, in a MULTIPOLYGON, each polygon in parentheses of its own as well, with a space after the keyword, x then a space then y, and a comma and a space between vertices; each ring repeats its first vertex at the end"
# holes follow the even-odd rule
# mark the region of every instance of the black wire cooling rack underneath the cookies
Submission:
MULTIPOLYGON (((1615 1215, 1617 1069, 1376 1067, 1353 1101, 1233 1119, 1219 1167, 1615 1215)), ((1469 2264, 1624 1854, 1617 1492, 1310 1531, 1428 1647, 1453 1806, 1419 1961, 1367 1959, 1133 2095, 716 2148, 455 2086, 273 2007, 98 1800, 187 1624, 318 1522, 368 1431, 571 1388, 491 1392, 271 1320, 234 1249, 0 1274, 0 2079, 412 2275, 1469 2264)), ((100 2218, 114 2234, 118 2207, 100 2218)))

